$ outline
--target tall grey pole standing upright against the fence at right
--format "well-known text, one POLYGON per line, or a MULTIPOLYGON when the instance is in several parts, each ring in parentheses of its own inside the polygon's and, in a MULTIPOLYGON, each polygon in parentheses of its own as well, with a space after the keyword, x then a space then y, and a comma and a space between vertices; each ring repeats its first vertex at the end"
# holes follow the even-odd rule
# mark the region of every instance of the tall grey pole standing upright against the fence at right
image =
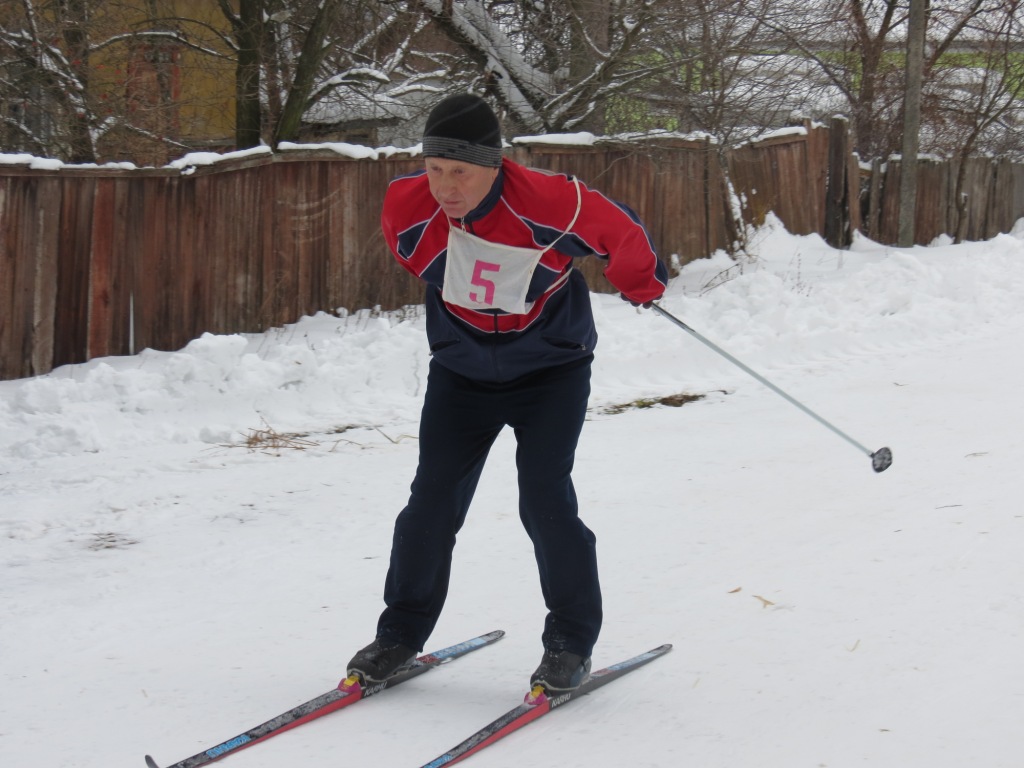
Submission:
POLYGON ((925 69, 925 14, 928 0, 910 0, 906 33, 906 93, 903 96, 903 148, 899 174, 901 248, 913 245, 918 207, 918 146, 921 133, 921 83, 925 69))

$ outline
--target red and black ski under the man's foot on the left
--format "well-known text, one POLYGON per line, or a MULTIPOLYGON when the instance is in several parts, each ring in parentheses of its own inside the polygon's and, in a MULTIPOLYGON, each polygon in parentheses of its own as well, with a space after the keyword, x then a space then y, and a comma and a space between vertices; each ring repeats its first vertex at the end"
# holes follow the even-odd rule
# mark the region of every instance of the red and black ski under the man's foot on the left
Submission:
MULTIPOLYGON (((417 657, 409 667, 399 670, 387 680, 366 687, 360 685, 357 679, 346 678, 334 690, 282 713, 272 720, 268 720, 262 725, 257 725, 245 733, 240 733, 238 736, 229 738, 216 746, 211 746, 209 750, 205 750, 198 755, 193 755, 190 758, 185 758, 174 763, 174 765, 168 766, 168 768, 196 768, 196 766, 220 760, 222 757, 231 755, 239 750, 252 746, 271 736, 276 736, 279 733, 296 728, 303 723, 308 723, 310 720, 315 720, 324 715, 340 710, 342 707, 347 707, 388 688, 400 685, 408 680, 422 675, 424 672, 432 670, 434 667, 439 667, 442 664, 464 656, 477 648, 490 645, 501 640, 504 636, 505 632, 503 630, 497 630, 486 635, 480 635, 465 642, 449 646, 447 648, 435 650, 433 653, 417 657)), ((145 756, 145 764, 148 768, 160 768, 157 762, 148 755, 145 756)))

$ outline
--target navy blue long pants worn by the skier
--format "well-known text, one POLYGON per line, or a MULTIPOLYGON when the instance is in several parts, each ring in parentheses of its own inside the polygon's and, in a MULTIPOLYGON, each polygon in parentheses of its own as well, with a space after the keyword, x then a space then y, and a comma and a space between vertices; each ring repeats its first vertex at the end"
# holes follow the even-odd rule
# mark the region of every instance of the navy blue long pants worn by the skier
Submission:
MULTIPOLYGON (((578 516, 572 464, 587 414, 592 357, 505 384, 431 361, 420 464, 395 521, 387 605, 377 634, 422 649, 447 596, 456 535, 499 432, 515 432, 519 517, 534 543, 548 608, 546 648, 589 656, 601 629, 595 537, 578 516)), ((500 600, 495 585, 494 599, 500 600)))

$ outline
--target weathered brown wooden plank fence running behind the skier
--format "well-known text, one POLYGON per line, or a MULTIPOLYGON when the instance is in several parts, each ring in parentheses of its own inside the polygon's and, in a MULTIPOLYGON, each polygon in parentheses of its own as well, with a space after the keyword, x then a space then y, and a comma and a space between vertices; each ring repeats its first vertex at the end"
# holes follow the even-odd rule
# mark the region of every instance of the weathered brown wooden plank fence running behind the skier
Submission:
MULTIPOLYGON (((854 229, 895 241, 898 165, 865 177, 842 121, 719 148, 666 138, 509 154, 628 203, 659 253, 683 263, 737 242, 736 200, 746 222, 773 211, 791 231, 837 246, 854 229)), ((317 311, 421 303, 379 227, 388 181, 421 164, 309 148, 184 170, 0 165, 0 379, 317 311)), ((919 174, 918 242, 954 233, 955 168, 928 162, 919 174)), ((971 161, 968 180, 967 239, 1024 216, 1024 166, 971 161)), ((590 261, 592 288, 610 290, 590 261)))

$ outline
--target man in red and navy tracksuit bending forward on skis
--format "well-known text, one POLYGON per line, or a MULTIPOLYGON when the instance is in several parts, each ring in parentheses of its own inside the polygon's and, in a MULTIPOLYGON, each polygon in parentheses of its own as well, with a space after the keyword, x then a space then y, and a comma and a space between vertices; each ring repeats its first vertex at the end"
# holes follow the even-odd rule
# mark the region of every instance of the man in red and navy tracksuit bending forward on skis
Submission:
POLYGON ((395 521, 377 638, 348 671, 383 680, 424 647, 487 452, 510 426, 519 516, 548 608, 530 685, 571 690, 589 676, 602 620, 595 537, 570 477, 597 342, 572 263, 606 260, 605 275, 635 304, 664 293, 668 270, 629 208, 503 159, 498 119, 477 96, 434 108, 423 156, 423 171, 391 182, 381 217, 398 263, 427 284, 419 467, 395 521))

